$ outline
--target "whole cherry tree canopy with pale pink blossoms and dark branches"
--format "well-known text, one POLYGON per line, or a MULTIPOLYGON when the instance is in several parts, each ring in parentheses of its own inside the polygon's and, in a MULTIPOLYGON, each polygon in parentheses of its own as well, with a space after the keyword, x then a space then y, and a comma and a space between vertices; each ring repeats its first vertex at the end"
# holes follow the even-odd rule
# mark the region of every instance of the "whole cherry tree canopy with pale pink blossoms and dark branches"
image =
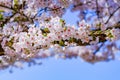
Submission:
POLYGON ((120 0, 0 0, 0 69, 48 57, 119 59, 120 0), (78 26, 66 10, 79 11, 78 26), (94 14, 94 15, 93 15, 94 14))

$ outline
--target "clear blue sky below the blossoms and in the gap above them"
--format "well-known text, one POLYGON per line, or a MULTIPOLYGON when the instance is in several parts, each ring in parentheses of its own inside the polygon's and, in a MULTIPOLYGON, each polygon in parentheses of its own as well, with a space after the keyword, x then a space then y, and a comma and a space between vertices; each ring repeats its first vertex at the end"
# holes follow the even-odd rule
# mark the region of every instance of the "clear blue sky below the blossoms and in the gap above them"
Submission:
MULTIPOLYGON (((76 22, 76 14, 67 12, 67 23, 76 22)), ((78 59, 48 58, 41 60, 40 66, 27 67, 23 70, 0 71, 0 80, 120 80, 120 61, 100 62, 94 65, 78 59)))

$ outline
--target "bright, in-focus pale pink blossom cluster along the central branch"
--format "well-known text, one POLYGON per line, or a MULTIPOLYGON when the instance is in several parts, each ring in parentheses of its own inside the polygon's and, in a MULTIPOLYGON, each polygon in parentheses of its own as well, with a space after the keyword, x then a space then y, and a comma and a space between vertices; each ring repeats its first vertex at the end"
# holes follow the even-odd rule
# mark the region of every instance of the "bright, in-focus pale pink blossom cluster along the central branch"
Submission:
MULTIPOLYGON (((51 18, 49 22, 42 22, 39 27, 29 25, 27 32, 23 32, 17 23, 16 25, 15 23, 8 23, 3 28, 2 34, 7 37, 3 38, 2 47, 3 49, 12 47, 16 53, 24 53, 25 50, 27 50, 25 53, 33 53, 37 47, 49 48, 55 41, 59 41, 59 45, 69 45, 67 40, 71 38, 80 39, 82 43, 88 43, 92 40, 89 36, 89 27, 90 25, 85 21, 81 21, 79 28, 75 29, 74 26, 64 25, 59 17, 51 18)), ((10 52, 6 51, 6 53, 9 54, 10 52)))

